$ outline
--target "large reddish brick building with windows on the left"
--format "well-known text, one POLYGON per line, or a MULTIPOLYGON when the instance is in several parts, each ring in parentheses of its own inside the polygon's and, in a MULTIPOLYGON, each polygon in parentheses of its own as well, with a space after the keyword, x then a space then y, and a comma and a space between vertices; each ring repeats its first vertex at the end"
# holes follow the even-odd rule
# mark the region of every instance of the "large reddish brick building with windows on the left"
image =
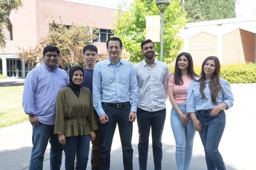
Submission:
MULTIPOLYGON (((100 36, 94 45, 98 52, 106 52, 106 39, 113 35, 113 18, 116 7, 111 5, 81 1, 81 0, 22 0, 23 6, 17 12, 12 12, 10 20, 12 31, 6 31, 6 48, 0 50, 0 71, 8 77, 25 78, 31 69, 17 57, 17 46, 29 49, 35 47, 39 39, 47 35, 49 18, 61 17, 63 24, 69 26, 74 22, 100 29, 100 36)), ((41 56, 40 56, 41 57, 41 56)))

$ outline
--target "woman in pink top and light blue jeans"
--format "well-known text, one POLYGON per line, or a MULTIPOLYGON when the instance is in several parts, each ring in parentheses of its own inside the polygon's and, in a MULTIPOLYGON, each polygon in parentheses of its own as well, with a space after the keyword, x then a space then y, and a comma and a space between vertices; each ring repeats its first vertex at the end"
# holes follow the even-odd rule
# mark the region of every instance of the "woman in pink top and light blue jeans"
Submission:
POLYGON ((176 58, 174 73, 168 80, 169 99, 172 104, 171 126, 176 142, 176 164, 178 170, 189 169, 193 140, 196 131, 189 114, 186 113, 187 88, 194 77, 193 60, 189 53, 180 53, 176 58))

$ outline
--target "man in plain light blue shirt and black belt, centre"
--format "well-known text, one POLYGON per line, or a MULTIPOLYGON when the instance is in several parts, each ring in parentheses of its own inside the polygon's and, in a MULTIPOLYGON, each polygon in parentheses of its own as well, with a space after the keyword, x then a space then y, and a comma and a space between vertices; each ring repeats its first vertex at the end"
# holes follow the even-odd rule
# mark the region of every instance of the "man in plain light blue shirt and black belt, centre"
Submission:
POLYGON ((138 84, 131 62, 122 60, 122 41, 106 43, 109 58, 97 63, 93 74, 93 104, 101 122, 100 169, 110 169, 110 151, 118 124, 125 170, 132 169, 132 122, 136 119, 138 84))

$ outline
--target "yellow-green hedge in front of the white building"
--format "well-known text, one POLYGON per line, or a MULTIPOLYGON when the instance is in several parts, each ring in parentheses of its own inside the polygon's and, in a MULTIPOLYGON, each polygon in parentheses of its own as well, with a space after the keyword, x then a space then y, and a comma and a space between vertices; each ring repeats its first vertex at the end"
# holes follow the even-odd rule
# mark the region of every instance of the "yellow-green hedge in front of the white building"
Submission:
MULTIPOLYGON (((174 66, 169 65, 172 73, 174 66)), ((195 72, 199 75, 201 66, 194 66, 195 72)), ((229 83, 256 83, 256 66, 254 63, 232 64, 221 66, 221 78, 226 79, 229 83)))

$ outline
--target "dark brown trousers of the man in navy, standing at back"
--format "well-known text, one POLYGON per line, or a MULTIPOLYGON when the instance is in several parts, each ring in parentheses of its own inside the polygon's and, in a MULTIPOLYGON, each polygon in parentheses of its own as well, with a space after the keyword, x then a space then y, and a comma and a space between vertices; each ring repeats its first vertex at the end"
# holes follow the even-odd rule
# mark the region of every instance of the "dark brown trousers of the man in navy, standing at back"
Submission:
MULTIPOLYGON (((96 111, 95 111, 96 113, 96 111)), ((91 142, 91 169, 96 168, 99 169, 100 167, 100 138, 101 138, 101 130, 100 130, 100 120, 99 116, 96 113, 96 119, 98 121, 98 127, 95 131, 95 139, 91 142)))

